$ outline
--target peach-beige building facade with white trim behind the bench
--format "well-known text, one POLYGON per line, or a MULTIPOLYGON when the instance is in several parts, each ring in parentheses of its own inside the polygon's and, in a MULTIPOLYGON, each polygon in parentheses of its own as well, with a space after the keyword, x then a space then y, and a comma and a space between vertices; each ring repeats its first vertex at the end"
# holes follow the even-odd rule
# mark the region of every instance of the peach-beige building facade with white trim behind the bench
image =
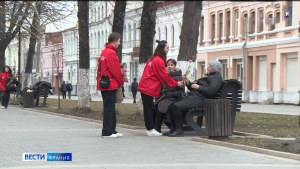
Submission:
POLYGON ((243 83, 244 101, 300 104, 299 9, 300 1, 204 1, 197 78, 218 60, 224 79, 243 83))

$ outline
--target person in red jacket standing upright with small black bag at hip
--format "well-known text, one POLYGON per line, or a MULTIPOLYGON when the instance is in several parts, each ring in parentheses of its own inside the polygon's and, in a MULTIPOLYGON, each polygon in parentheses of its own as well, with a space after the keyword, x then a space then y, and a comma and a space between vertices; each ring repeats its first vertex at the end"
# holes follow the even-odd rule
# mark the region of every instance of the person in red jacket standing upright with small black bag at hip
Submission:
POLYGON ((108 37, 108 42, 105 49, 102 51, 98 59, 97 71, 97 90, 101 91, 103 100, 103 138, 122 137, 121 133, 116 131, 116 91, 119 86, 123 86, 124 80, 121 73, 120 61, 118 59, 116 48, 120 45, 120 35, 112 32, 108 37), (107 89, 100 87, 100 79, 103 76, 110 79, 110 84, 107 89))

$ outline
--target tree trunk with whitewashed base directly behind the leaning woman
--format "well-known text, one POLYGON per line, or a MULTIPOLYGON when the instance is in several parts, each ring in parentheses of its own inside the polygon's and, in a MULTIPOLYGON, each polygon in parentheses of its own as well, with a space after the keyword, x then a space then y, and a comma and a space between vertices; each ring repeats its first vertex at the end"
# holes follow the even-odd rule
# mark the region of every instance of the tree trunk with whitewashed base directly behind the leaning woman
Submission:
MULTIPOLYGON (((144 1, 141 16, 141 45, 139 52, 139 78, 142 77, 147 61, 153 55, 153 38, 155 35, 157 1, 144 1)), ((140 95, 136 98, 136 111, 130 117, 136 119, 143 112, 143 103, 140 95)))

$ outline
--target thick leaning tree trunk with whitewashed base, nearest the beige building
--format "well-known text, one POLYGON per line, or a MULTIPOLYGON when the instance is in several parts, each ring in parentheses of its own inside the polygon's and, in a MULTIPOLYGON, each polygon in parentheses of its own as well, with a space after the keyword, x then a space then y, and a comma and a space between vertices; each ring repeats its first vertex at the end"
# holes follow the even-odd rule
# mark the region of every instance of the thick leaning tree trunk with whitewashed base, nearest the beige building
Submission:
POLYGON ((201 11, 202 1, 184 1, 177 67, 185 73, 190 65, 190 73, 187 75, 190 80, 195 80, 195 62, 189 63, 188 60, 196 59, 201 11))

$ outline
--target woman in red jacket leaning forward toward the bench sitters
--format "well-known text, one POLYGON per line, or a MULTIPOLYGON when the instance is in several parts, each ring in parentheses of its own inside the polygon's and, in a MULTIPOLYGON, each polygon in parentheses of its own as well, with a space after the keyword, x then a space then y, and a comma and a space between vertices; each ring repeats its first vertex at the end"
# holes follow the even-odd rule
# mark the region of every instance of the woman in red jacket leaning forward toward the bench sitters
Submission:
POLYGON ((153 56, 146 63, 142 78, 138 85, 137 90, 141 92, 141 97, 144 106, 144 120, 146 126, 146 135, 147 136, 161 136, 154 129, 154 104, 153 98, 159 97, 159 92, 161 88, 161 84, 168 87, 176 87, 182 86, 183 81, 175 81, 173 80, 168 72, 166 71, 166 55, 169 51, 169 44, 167 41, 158 41, 158 45, 154 51, 153 56))

